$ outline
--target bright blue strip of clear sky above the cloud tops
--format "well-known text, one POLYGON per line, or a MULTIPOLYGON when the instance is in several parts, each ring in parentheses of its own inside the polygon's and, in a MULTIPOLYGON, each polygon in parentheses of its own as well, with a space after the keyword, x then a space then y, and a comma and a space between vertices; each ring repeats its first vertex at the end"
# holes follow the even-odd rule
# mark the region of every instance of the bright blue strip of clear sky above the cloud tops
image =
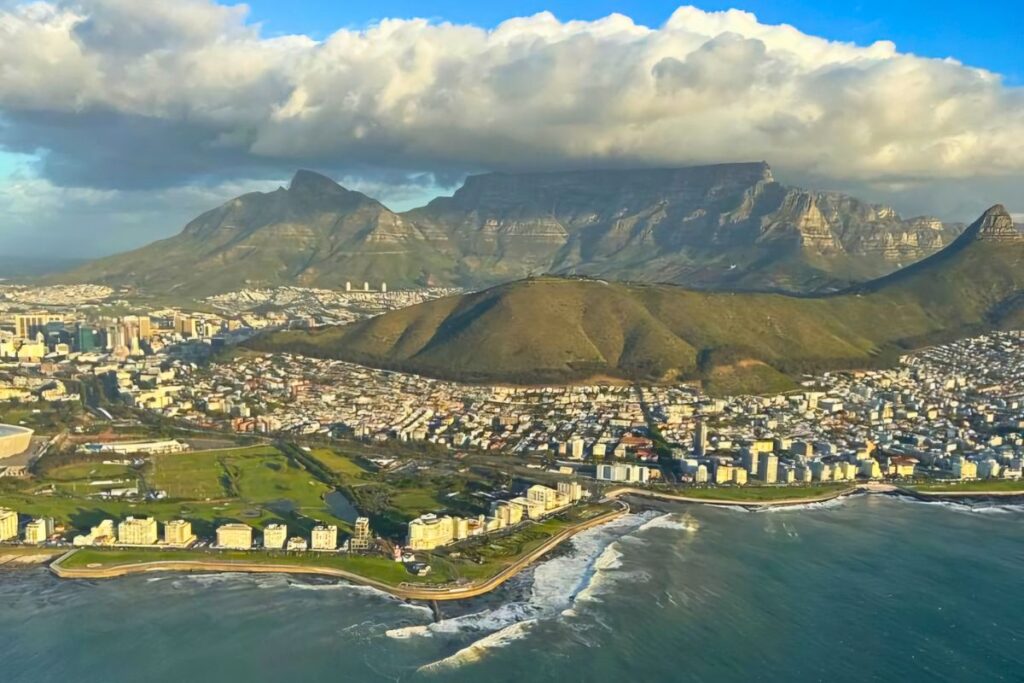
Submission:
POLYGON ((612 12, 657 27, 684 4, 706 10, 743 9, 766 24, 790 24, 833 40, 869 44, 891 40, 903 52, 953 57, 1024 82, 1024 0, 250 0, 252 18, 268 34, 324 37, 382 17, 425 16, 494 27, 510 16, 551 11, 562 19, 612 12))

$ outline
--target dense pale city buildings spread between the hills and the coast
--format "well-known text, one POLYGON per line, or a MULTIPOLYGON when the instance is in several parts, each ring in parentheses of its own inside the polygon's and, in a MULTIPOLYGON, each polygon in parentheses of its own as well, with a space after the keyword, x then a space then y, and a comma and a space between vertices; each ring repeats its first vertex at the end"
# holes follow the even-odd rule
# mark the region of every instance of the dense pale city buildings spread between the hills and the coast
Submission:
MULTIPOLYGON (((808 376, 800 390, 784 394, 725 398, 686 383, 481 386, 288 353, 214 355, 260 330, 346 323, 451 293, 388 292, 385 285, 372 289, 369 283, 338 292, 251 290, 213 297, 200 311, 147 308, 92 285, 0 287, 0 404, 83 400, 80 387, 88 382, 123 405, 196 429, 423 442, 455 455, 500 456, 566 477, 557 487, 538 484, 524 496, 497 501, 487 516, 424 510, 409 524, 409 550, 429 550, 557 512, 585 498, 580 480, 590 481, 588 486, 623 482, 685 493, 695 486, 1021 476, 1024 335, 1019 332, 923 349, 888 370, 808 376)), ((180 446, 175 443, 135 450, 173 453, 180 446)), ((133 450, 91 447, 122 456, 133 450)), ((18 460, 24 450, 0 452, 0 476, 29 475, 31 462, 18 460)), ((355 528, 346 550, 371 543, 367 518, 355 528)), ((162 540, 152 518, 108 519, 79 531, 75 545, 198 542, 184 519, 168 520, 162 540)), ((41 543, 53 533, 52 520, 37 519, 24 526, 23 536, 41 543)), ((0 541, 17 535, 16 513, 0 510, 0 541)), ((249 549, 252 535, 246 524, 225 524, 211 541, 215 547, 249 549)), ((290 537, 284 525, 270 525, 261 546, 336 551, 338 529, 317 525, 307 541, 290 537)), ((400 559, 400 546, 394 548, 400 559)))

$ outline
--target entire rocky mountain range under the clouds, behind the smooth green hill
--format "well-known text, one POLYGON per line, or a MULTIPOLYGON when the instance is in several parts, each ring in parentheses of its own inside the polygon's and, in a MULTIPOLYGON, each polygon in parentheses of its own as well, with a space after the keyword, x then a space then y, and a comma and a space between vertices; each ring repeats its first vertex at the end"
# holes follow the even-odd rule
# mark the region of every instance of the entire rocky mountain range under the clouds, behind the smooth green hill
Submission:
POLYGON ((287 188, 244 195, 175 237, 53 280, 202 296, 365 281, 476 288, 561 273, 820 292, 912 263, 962 229, 785 186, 760 162, 487 173, 404 213, 299 171, 287 188))

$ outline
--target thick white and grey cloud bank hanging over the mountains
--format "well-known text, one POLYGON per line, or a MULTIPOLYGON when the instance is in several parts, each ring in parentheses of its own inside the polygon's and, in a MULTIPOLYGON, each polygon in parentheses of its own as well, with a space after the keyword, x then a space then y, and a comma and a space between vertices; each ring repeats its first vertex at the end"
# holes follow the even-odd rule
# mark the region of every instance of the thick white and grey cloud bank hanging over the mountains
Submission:
POLYGON ((1024 90, 998 75, 735 10, 682 7, 653 29, 386 19, 317 41, 264 36, 244 6, 206 0, 0 2, 0 145, 115 214, 299 166, 415 187, 765 159, 963 214, 998 199, 980 183, 1024 177, 1024 90))

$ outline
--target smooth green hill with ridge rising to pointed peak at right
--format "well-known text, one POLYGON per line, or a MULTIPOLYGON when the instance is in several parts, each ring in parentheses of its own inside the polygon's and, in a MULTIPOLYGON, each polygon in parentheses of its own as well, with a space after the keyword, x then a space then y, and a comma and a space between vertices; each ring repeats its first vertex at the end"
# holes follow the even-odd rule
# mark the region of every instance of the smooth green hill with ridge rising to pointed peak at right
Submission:
POLYGON ((996 206, 943 251, 838 294, 545 276, 252 345, 466 381, 701 378, 713 390, 765 390, 800 372, 872 366, 1017 325, 1022 292, 1024 239, 996 206))

